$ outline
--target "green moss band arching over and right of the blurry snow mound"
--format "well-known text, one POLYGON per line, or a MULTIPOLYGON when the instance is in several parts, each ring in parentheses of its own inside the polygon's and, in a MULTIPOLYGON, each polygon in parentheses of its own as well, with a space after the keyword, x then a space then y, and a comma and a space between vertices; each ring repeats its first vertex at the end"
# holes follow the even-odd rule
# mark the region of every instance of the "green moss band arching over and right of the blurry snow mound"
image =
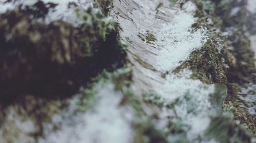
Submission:
MULTIPOLYGON (((135 95, 130 89, 130 84, 132 83, 132 71, 130 68, 121 68, 114 72, 108 72, 104 70, 100 75, 93 78, 93 87, 99 82, 113 82, 115 84, 115 90, 123 94, 120 106, 129 105, 133 108, 135 112, 133 129, 135 132, 134 142, 167 142, 165 134, 157 130, 155 126, 151 123, 151 117, 146 116, 143 109, 143 100, 135 95)), ((95 90, 84 90, 84 99, 79 101, 81 109, 88 109, 96 102, 95 100, 95 90)))

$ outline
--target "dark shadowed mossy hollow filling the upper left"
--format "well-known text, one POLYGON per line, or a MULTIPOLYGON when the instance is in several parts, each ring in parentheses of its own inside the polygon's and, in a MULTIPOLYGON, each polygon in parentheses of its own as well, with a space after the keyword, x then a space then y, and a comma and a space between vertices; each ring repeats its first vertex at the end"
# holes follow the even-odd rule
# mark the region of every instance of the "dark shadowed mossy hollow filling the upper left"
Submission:
POLYGON ((34 13, 48 13, 41 5, 48 8, 39 1, 0 15, 1 96, 69 95, 103 68, 123 64, 118 24, 99 9, 78 8, 82 23, 74 26, 40 22, 34 13))

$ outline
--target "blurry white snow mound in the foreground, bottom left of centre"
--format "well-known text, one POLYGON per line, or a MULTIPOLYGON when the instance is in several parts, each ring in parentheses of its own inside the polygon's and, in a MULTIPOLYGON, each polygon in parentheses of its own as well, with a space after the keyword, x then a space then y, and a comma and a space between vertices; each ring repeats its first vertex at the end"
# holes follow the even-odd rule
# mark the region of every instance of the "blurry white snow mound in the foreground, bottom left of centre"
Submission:
MULTIPOLYGON (((63 120, 61 118, 63 115, 58 115, 53 122, 61 123, 60 130, 48 132, 47 138, 41 138, 39 142, 132 142, 133 113, 129 108, 119 105, 122 94, 114 91, 114 84, 111 82, 97 85, 97 91, 97 103, 92 109, 74 115, 71 121, 63 120)), ((76 102, 73 102, 70 108, 76 106, 74 103, 76 102)), ((63 112, 64 117, 72 116, 72 113, 63 112)))

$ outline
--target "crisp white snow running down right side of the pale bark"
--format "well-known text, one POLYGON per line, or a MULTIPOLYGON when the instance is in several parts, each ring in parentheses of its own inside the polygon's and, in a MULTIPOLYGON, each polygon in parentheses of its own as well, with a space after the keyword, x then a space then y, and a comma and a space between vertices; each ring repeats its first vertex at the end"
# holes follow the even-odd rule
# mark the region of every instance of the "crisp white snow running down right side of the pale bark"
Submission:
MULTIPOLYGON (((196 10, 194 4, 187 3, 182 10, 177 10, 172 22, 165 22, 155 34, 158 52, 154 67, 161 72, 168 71, 165 80, 155 92, 161 96, 164 107, 160 113, 160 120, 156 121, 159 129, 166 128, 169 118, 180 119, 189 127, 187 138, 191 141, 204 135, 211 120, 209 110, 211 103, 209 95, 214 93, 214 85, 204 84, 200 80, 191 79, 192 72, 188 69, 180 73, 172 71, 188 60, 195 49, 199 49, 206 42, 206 30, 194 31, 191 25, 196 22, 193 14, 196 10), (179 103, 174 103, 179 100, 179 103), (173 109, 166 107, 174 103, 173 109)), ((152 75, 148 75, 152 77, 152 75)))

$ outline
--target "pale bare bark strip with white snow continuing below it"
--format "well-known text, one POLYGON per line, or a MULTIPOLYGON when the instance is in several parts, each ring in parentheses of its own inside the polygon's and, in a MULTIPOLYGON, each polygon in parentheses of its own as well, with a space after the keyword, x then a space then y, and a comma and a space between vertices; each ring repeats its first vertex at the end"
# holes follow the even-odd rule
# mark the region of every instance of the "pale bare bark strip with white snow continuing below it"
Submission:
MULTIPOLYGON (((168 124, 172 119, 174 124, 185 127, 184 138, 187 141, 204 138, 211 117, 215 116, 210 95, 215 93, 216 87, 190 79, 192 72, 188 69, 172 73, 207 40, 204 28, 197 31, 191 28, 197 20, 194 18, 196 6, 188 2, 180 9, 169 7, 166 1, 143 3, 135 0, 114 2, 114 6, 114 13, 123 30, 121 37, 131 47, 129 57, 134 71, 133 90, 138 94, 138 91, 153 90, 163 102, 159 119, 154 121, 156 127, 166 133, 171 132, 168 124), (148 34, 154 35, 156 40, 146 41, 148 34), (127 41, 127 37, 132 42, 127 41)), ((178 142, 183 138, 180 135, 168 137, 178 142)), ((204 139, 201 142, 217 141, 204 139)))

